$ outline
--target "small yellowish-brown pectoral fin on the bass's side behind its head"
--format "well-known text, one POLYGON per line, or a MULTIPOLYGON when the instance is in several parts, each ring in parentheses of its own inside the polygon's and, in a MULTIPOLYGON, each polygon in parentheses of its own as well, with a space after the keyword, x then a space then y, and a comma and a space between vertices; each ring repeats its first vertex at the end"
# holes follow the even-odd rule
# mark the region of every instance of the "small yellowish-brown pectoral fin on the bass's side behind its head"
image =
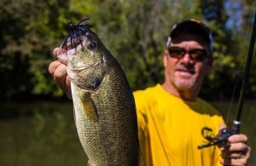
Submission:
POLYGON ((84 94, 81 98, 84 107, 84 113, 91 121, 98 121, 98 113, 94 101, 91 99, 90 94, 84 94))

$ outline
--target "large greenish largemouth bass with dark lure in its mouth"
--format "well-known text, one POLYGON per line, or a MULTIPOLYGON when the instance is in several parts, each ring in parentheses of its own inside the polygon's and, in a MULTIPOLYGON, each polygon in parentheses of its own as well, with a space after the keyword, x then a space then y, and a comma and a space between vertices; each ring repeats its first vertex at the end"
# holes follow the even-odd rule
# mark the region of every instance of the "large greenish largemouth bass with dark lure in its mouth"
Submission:
POLYGON ((91 166, 136 166, 140 152, 130 85, 118 61, 82 21, 72 26, 59 54, 60 60, 68 59, 79 140, 91 166))

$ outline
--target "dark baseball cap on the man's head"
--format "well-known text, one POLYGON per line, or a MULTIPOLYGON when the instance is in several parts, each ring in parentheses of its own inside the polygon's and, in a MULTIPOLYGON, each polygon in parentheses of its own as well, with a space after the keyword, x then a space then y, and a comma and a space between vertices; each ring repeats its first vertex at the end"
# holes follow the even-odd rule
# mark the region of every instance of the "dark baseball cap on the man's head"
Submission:
POLYGON ((175 24, 172 27, 172 31, 168 37, 168 40, 166 43, 167 46, 169 46, 173 38, 177 37, 177 35, 183 32, 201 36, 209 44, 210 49, 212 51, 213 49, 212 32, 200 20, 195 20, 195 19, 183 20, 182 22, 175 24))

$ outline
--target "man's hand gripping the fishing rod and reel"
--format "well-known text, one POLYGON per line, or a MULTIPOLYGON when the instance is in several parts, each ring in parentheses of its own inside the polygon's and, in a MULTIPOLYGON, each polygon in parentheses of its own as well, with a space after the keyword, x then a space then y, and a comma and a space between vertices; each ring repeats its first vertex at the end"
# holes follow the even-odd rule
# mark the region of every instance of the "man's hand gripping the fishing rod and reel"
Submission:
POLYGON ((251 154, 250 146, 247 146, 246 135, 231 135, 228 139, 229 145, 220 147, 224 165, 245 166, 251 154))

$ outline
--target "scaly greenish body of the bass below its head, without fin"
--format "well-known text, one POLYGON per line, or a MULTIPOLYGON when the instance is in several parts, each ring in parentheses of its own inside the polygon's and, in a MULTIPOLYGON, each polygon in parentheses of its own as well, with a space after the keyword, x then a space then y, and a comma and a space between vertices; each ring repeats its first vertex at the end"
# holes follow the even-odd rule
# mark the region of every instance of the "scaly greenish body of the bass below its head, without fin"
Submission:
MULTIPOLYGON (((129 110, 134 110, 132 95, 130 94, 130 99, 124 97, 124 94, 128 94, 128 90, 124 89, 124 83, 120 83, 122 82, 121 77, 117 77, 117 72, 113 73, 113 77, 116 79, 112 78, 112 84, 107 77, 106 83, 103 80, 102 87, 96 94, 91 94, 98 111, 98 122, 90 122, 86 117, 83 107, 80 107, 82 100, 73 100, 79 139, 91 165, 125 165, 125 162, 127 165, 134 165, 130 157, 139 156, 136 155, 138 148, 136 146, 137 133, 135 132, 137 123, 133 123, 131 129, 127 126, 136 119, 134 112, 133 115, 129 112, 129 110), (123 86, 117 83, 123 84, 123 86), (123 92, 123 94, 120 95, 119 92, 123 92)), ((73 98, 76 98, 75 92, 81 89, 75 87, 74 84, 72 87, 73 98)), ((135 162, 136 160, 134 157, 135 162)))

